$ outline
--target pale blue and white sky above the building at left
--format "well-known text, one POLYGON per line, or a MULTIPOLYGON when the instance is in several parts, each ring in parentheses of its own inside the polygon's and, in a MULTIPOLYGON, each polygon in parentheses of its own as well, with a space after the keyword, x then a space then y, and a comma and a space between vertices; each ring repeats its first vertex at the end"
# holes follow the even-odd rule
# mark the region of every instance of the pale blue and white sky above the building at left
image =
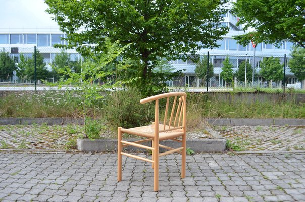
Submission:
POLYGON ((0 0, 1 28, 58 27, 44 0, 0 0))

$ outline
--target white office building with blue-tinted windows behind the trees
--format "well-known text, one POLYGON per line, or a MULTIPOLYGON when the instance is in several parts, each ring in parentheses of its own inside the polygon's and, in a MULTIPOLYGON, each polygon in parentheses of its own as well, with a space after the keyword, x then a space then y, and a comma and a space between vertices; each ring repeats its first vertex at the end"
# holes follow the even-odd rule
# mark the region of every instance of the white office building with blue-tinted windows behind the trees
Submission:
MULTIPOLYGON (((239 45, 233 36, 243 34, 240 26, 236 26, 238 18, 232 15, 230 12, 223 15, 224 21, 223 26, 228 26, 230 31, 227 35, 223 37, 222 40, 218 41, 220 47, 214 49, 202 49, 198 52, 200 55, 206 55, 209 51, 210 60, 214 65, 215 77, 211 78, 211 86, 223 86, 224 82, 219 79, 221 72, 222 63, 226 56, 229 57, 230 62, 234 65, 234 70, 238 68, 238 65, 244 61, 248 60, 251 64, 256 64, 258 67, 256 71, 259 71, 260 61, 264 57, 278 57, 283 62, 284 54, 287 57, 287 70, 286 70, 286 82, 289 84, 294 84, 297 79, 289 71, 289 58, 290 48, 293 45, 291 42, 284 41, 280 47, 276 47, 274 44, 257 44, 256 47, 256 59, 253 61, 253 47, 249 44, 245 47, 239 45)), ((9 52, 12 57, 14 57, 15 62, 18 62, 20 53, 23 53, 26 57, 32 57, 34 53, 34 46, 37 47, 39 52, 43 55, 46 64, 50 64, 57 53, 60 53, 59 48, 54 48, 54 44, 65 44, 65 33, 62 33, 58 28, 34 28, 34 29, 0 29, 0 50, 9 52)), ((80 60, 81 55, 76 52, 75 49, 70 49, 67 51, 70 53, 71 60, 80 60)), ((194 86, 195 85, 195 64, 193 61, 182 61, 175 60, 170 61, 171 64, 176 69, 185 69, 185 76, 176 82, 170 82, 170 84, 180 85, 180 86, 194 86)), ((253 65, 252 65, 253 66, 253 65)), ((260 83, 261 78, 256 78, 256 82, 260 83)))

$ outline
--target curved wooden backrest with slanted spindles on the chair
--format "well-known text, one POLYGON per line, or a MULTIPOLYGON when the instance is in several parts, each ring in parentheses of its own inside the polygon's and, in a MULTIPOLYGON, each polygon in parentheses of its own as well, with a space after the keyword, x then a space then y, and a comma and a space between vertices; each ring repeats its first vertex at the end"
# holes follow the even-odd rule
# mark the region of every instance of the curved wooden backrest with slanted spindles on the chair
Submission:
POLYGON ((140 103, 155 101, 155 130, 156 132, 167 132, 186 128, 186 96, 185 92, 169 92, 147 97, 140 103), (159 122, 159 99, 167 99, 163 121, 159 122), (171 105, 170 98, 174 99, 171 105), (160 125, 159 125, 160 124, 160 125))

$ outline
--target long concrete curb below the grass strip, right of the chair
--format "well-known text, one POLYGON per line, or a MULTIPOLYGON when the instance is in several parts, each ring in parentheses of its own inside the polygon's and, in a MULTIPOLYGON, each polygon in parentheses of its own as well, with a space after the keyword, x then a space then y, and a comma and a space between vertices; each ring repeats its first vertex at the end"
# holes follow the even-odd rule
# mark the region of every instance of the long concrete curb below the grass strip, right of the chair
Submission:
POLYGON ((305 119, 206 119, 206 121, 218 126, 305 126, 305 119))

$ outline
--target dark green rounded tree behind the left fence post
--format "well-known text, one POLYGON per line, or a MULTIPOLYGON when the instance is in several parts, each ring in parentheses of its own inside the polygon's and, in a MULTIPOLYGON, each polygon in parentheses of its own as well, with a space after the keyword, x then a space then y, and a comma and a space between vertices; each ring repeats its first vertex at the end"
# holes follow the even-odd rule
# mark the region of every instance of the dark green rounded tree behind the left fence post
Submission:
MULTIPOLYGON (((25 60, 21 64, 18 64, 18 67, 20 69, 24 70, 24 75, 27 76, 27 78, 34 80, 34 54, 32 58, 29 58, 28 60, 25 60)), ((50 72, 48 71, 45 62, 43 61, 43 56, 39 53, 39 51, 36 52, 36 73, 37 73, 37 80, 43 80, 48 79, 50 77, 50 72)))

